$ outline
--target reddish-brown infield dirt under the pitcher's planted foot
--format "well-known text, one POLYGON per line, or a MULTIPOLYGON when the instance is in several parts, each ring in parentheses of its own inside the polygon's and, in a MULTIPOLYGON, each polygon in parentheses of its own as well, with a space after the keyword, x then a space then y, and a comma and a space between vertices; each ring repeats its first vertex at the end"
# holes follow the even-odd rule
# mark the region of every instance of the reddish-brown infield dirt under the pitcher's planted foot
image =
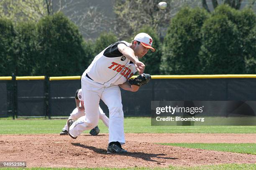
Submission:
POLYGON ((256 143, 256 134, 125 134, 125 155, 107 154, 108 134, 0 135, 1 161, 27 167, 168 167, 256 163, 256 155, 182 148, 154 143, 256 143))

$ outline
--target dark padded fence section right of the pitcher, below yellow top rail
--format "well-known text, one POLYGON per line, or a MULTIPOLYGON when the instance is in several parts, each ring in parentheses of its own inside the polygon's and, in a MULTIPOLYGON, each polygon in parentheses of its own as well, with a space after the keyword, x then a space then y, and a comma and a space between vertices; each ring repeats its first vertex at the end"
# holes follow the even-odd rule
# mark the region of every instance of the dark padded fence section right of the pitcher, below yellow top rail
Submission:
POLYGON ((256 101, 255 87, 255 78, 153 79, 138 92, 122 90, 123 111, 150 116, 151 101, 256 101))

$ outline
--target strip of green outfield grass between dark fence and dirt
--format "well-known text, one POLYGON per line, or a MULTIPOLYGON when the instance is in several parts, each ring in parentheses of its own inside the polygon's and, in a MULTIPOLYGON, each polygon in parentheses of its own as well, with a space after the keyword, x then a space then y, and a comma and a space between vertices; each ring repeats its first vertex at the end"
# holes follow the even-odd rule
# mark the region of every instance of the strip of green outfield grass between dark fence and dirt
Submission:
MULTIPOLYGON (((0 119, 0 134, 59 133, 66 121, 0 119)), ((256 126, 151 126, 150 117, 125 118, 124 126, 125 133, 256 133, 256 126)), ((102 121, 99 121, 99 128, 101 133, 108 133, 102 121)))

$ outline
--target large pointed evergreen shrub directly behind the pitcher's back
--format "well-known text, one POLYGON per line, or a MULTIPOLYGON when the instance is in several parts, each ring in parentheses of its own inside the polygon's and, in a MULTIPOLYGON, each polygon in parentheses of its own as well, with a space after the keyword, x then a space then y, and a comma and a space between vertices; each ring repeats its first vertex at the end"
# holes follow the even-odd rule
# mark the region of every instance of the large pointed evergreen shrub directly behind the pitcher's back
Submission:
POLYGON ((40 60, 35 74, 48 76, 81 75, 91 56, 82 35, 62 13, 42 18, 38 23, 40 60))

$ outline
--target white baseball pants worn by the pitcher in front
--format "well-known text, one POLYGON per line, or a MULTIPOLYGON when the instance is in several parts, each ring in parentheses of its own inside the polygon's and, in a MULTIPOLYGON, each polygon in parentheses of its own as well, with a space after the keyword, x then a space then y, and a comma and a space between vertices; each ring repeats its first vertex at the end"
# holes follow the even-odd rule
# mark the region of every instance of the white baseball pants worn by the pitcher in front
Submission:
POLYGON ((79 117, 69 127, 69 134, 77 137, 84 130, 92 129, 98 124, 101 99, 109 109, 109 143, 118 141, 124 144, 123 105, 119 86, 105 87, 87 77, 82 77, 81 81, 86 115, 79 117))

